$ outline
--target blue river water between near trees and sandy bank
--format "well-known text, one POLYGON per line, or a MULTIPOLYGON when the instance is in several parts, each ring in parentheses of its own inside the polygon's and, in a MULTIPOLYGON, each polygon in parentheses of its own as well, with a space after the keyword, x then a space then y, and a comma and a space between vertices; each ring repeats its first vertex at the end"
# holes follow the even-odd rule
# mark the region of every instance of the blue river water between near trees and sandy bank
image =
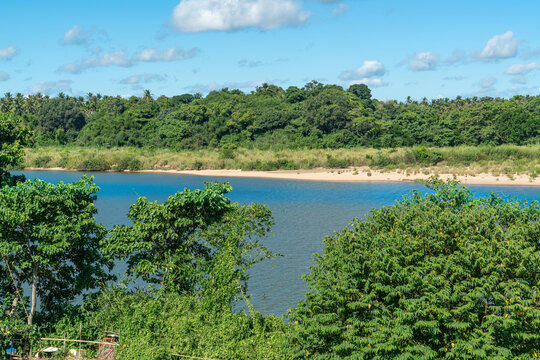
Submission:
MULTIPOLYGON (((60 171, 18 172, 29 179, 72 182, 82 173, 60 171)), ((307 286, 302 275, 309 272, 313 254, 323 252, 322 240, 345 227, 354 217, 373 208, 391 205, 413 189, 425 191, 423 184, 397 182, 318 182, 300 180, 202 177, 175 174, 88 173, 101 188, 96 207, 97 220, 111 229, 128 224, 129 205, 139 196, 163 202, 184 188, 202 188, 205 182, 229 181, 229 197, 240 203, 263 203, 273 212, 276 225, 263 240, 283 256, 257 264, 250 272, 249 294, 255 308, 265 314, 283 315, 304 298, 307 286)), ((469 186, 477 195, 490 192, 504 198, 540 201, 540 187, 469 186)), ((118 272, 121 266, 118 267, 118 272)))

